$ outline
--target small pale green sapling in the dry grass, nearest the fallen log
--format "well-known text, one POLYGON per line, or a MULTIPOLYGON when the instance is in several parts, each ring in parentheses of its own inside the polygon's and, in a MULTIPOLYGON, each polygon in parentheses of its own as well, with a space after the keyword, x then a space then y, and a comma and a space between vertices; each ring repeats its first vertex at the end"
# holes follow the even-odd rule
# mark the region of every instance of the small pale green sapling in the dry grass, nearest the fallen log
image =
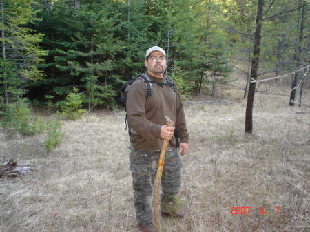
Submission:
POLYGON ((45 149, 48 153, 52 151, 56 147, 56 145, 59 145, 65 138, 65 132, 60 131, 61 128, 61 122, 60 120, 54 120, 48 124, 47 128, 47 134, 48 138, 45 140, 45 149))

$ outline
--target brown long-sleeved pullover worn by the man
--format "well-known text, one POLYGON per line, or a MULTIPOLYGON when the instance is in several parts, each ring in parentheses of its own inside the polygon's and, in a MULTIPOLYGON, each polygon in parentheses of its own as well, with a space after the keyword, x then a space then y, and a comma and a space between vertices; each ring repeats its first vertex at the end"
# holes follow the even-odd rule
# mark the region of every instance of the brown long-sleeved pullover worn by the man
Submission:
MULTIPOLYGON (((147 74, 147 73, 146 73, 147 74)), ((151 81, 166 81, 165 78, 156 78, 147 74, 151 81)), ((143 80, 136 80, 127 92, 126 100, 128 125, 137 134, 130 135, 132 147, 141 151, 160 150, 163 139, 161 139, 161 126, 167 125, 165 116, 174 121, 174 127, 178 131, 180 143, 188 143, 183 104, 178 90, 174 92, 169 85, 152 84, 152 96, 147 97, 147 87, 143 80)), ((167 150, 173 149, 176 138, 169 140, 167 150)))

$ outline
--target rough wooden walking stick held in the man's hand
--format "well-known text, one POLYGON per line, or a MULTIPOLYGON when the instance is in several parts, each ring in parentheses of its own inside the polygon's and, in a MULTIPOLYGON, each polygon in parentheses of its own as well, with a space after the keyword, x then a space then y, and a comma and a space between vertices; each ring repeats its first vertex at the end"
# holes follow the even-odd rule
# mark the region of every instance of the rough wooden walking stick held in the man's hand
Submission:
MULTIPOLYGON (((167 126, 173 127, 174 122, 167 116, 167 126)), ((156 182, 155 182, 155 193, 154 193, 154 211, 155 211, 155 224, 156 224, 156 230, 157 232, 161 232, 161 224, 159 222, 159 209, 158 209, 158 192, 159 192, 159 186, 161 185, 161 176, 163 174, 163 165, 165 162, 165 156, 167 151, 169 140, 164 139, 163 145, 161 147, 161 154, 159 155, 159 161, 158 161, 158 167, 157 167, 157 174, 156 174, 156 182)))

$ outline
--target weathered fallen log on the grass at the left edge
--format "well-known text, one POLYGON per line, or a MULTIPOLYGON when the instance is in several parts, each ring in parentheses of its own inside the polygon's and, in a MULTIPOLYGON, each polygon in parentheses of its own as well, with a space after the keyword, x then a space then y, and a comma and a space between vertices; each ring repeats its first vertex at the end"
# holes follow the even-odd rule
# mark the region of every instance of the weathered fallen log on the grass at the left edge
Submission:
POLYGON ((0 178, 2 176, 17 177, 28 174, 32 171, 32 168, 28 167, 29 165, 31 164, 17 165, 14 158, 11 158, 10 161, 0 165, 0 178))

